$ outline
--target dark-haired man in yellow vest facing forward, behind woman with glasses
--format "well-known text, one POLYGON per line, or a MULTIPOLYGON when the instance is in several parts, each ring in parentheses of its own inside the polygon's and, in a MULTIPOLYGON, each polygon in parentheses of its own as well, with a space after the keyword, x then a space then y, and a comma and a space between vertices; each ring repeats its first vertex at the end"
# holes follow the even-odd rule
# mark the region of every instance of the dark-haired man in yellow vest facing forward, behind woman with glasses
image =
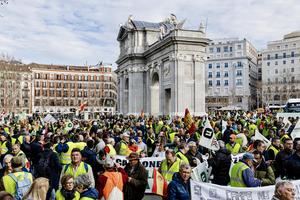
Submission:
MULTIPOLYGON (((74 148, 71 152, 71 163, 63 167, 60 179, 65 175, 69 174, 76 179, 79 175, 88 174, 91 180, 91 187, 95 187, 95 180, 93 175, 93 170, 91 166, 82 161, 82 155, 80 149, 74 148)), ((61 184, 61 181, 59 181, 61 184)), ((61 188, 61 185, 60 185, 61 188)))

